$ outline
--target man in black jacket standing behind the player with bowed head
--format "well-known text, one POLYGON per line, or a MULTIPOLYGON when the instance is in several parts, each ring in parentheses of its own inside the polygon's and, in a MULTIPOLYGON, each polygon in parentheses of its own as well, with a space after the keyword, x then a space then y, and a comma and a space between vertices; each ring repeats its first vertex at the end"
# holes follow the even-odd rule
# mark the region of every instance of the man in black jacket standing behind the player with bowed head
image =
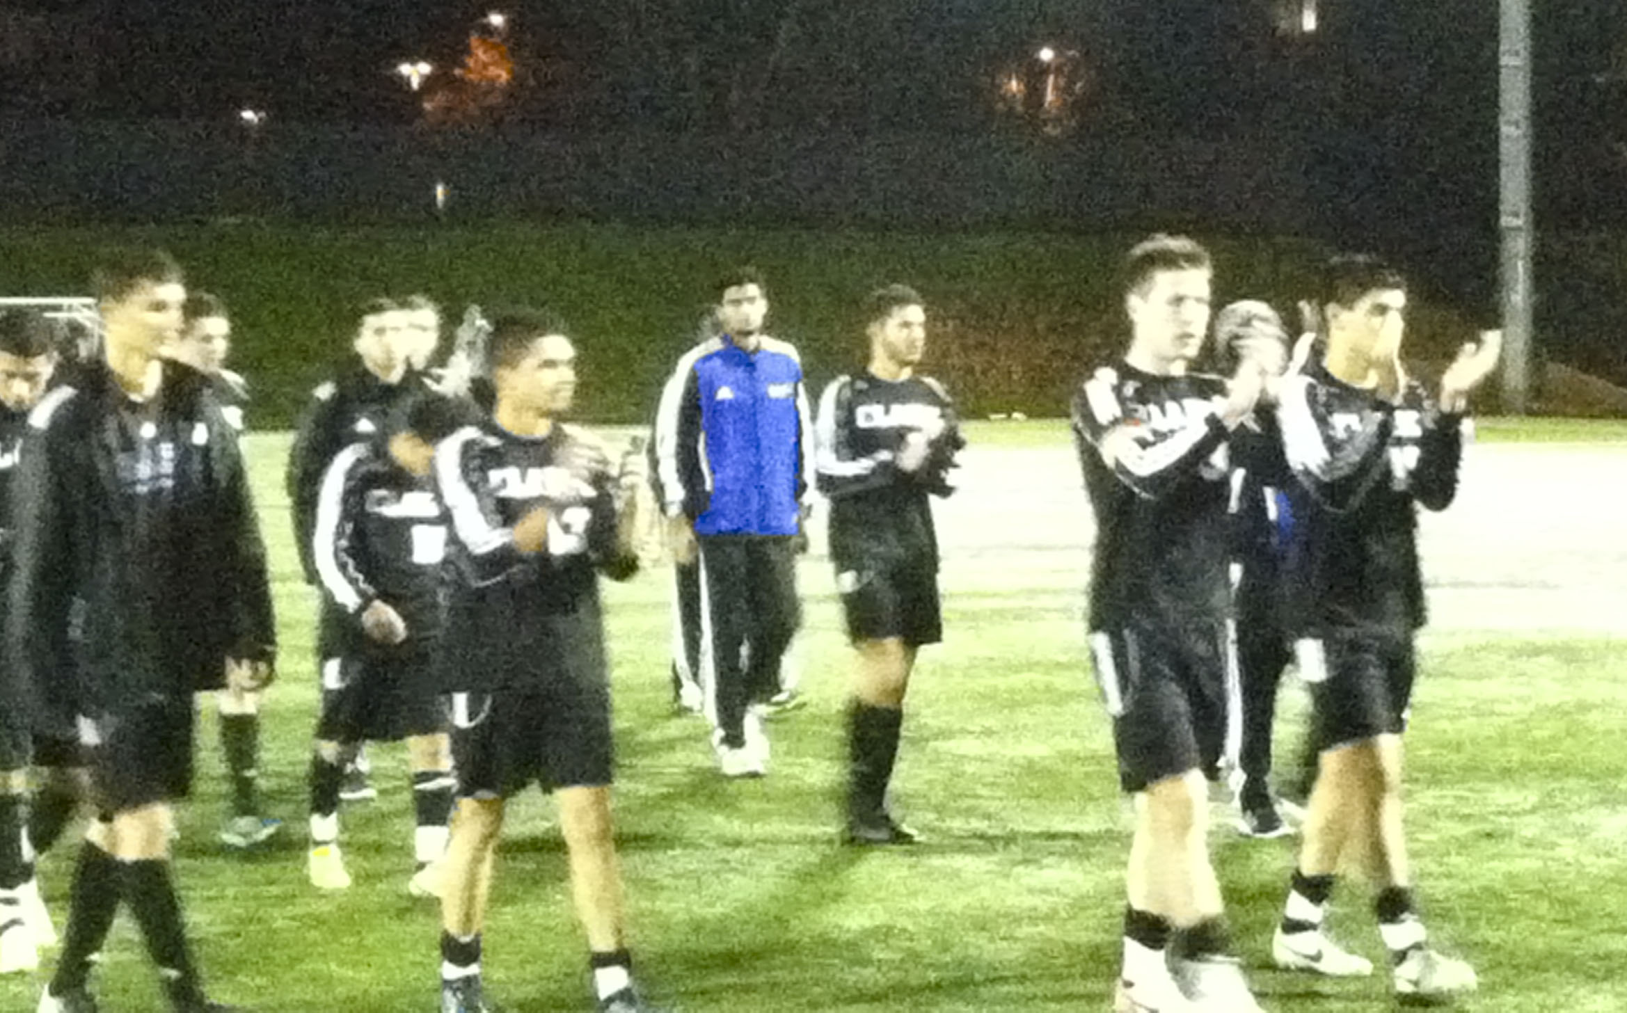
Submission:
MULTIPOLYGON (((377 434, 390 411, 425 390, 420 363, 428 363, 434 353, 433 346, 425 346, 423 335, 408 332, 408 312, 390 299, 369 299, 363 306, 353 346, 356 358, 350 366, 311 392, 311 407, 288 455, 286 483, 293 504, 294 543, 306 582, 312 587, 319 585, 312 554, 316 502, 327 465, 356 439, 377 434)), ((337 657, 348 624, 324 600, 317 613, 319 665, 337 657)), ((345 771, 340 797, 347 802, 377 795, 368 784, 364 756, 358 750, 355 763, 345 771)))

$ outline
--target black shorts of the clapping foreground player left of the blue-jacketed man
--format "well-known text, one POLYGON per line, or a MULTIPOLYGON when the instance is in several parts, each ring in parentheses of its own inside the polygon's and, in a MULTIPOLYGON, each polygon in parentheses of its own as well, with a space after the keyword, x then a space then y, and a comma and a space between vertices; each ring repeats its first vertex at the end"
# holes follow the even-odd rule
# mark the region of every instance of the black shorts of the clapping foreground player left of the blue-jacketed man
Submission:
POLYGON ((508 798, 612 780, 610 688, 600 680, 454 693, 452 764, 462 798, 508 798))

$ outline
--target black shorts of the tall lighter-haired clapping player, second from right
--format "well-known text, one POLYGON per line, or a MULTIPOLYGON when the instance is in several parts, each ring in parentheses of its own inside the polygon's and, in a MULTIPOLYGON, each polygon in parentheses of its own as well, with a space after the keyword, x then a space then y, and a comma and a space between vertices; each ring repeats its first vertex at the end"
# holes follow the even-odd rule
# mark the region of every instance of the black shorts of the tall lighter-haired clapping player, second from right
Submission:
POLYGON ((1235 649, 1224 621, 1093 631, 1090 654, 1126 792, 1214 774, 1241 733, 1235 649))

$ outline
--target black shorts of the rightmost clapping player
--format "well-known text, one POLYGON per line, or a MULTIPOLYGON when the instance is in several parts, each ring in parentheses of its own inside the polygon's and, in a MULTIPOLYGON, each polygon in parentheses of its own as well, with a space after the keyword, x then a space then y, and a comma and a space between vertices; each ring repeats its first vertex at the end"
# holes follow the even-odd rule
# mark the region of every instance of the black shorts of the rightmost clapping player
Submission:
POLYGON ((1311 688, 1318 750, 1406 732, 1417 673, 1411 631, 1334 633, 1295 644, 1295 654, 1311 688))

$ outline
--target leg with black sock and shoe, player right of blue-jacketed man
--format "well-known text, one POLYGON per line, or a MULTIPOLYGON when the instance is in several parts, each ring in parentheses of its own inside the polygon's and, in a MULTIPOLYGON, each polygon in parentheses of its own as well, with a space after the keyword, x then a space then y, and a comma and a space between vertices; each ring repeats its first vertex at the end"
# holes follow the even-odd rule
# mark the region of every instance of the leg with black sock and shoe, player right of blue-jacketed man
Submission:
POLYGON ((887 805, 898 756, 905 693, 916 649, 900 637, 857 641, 853 706, 848 714, 849 844, 914 844, 914 831, 898 824, 887 805))

